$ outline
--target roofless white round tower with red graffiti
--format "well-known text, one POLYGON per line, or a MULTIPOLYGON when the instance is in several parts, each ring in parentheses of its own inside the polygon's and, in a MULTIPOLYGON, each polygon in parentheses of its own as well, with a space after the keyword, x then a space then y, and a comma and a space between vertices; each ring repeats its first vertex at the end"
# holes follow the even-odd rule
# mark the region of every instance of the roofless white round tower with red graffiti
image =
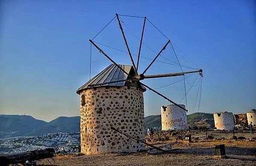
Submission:
MULTIPOLYGON (((183 104, 180 104, 180 106, 185 108, 183 104)), ((176 105, 167 105, 165 111, 161 107, 161 120, 162 130, 187 128, 186 111, 176 105)))

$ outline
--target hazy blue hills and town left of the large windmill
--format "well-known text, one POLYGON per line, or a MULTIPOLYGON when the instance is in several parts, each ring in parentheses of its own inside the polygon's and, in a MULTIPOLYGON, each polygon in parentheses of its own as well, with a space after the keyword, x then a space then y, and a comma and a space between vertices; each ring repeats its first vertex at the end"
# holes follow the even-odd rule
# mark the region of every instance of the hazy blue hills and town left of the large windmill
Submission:
POLYGON ((61 116, 47 123, 29 115, 0 115, 0 138, 79 131, 79 116, 61 116))

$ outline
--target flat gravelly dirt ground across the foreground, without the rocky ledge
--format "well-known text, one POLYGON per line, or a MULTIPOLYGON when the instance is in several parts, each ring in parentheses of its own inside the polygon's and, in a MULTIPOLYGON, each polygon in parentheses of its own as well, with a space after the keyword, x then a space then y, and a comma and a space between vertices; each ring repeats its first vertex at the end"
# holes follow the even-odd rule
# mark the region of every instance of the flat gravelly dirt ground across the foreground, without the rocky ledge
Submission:
MULTIPOLYGON (((171 142, 171 141, 169 141, 171 142)), ((160 144, 158 144, 160 145, 160 144)), ((222 140, 186 143, 176 142, 173 151, 151 155, 147 152, 130 154, 63 156, 54 160, 58 166, 256 166, 256 141, 222 140), (224 143, 227 158, 215 159, 215 144, 224 143)), ((49 164, 42 160, 38 164, 49 164)))

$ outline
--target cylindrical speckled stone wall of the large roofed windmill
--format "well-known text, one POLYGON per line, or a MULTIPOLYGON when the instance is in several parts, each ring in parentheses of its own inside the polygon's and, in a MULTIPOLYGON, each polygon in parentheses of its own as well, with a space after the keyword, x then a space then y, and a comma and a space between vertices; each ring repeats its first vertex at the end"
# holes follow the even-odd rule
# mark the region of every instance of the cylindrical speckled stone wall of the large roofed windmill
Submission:
POLYGON ((136 152, 144 147, 113 131, 145 141, 143 91, 136 87, 97 87, 80 93, 81 152, 136 152))

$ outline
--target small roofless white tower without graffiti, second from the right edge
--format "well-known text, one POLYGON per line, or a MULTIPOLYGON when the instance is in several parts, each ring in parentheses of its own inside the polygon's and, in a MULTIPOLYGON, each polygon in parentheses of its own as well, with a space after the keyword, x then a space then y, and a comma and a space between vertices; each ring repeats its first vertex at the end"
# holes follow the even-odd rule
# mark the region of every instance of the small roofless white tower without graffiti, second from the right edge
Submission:
POLYGON ((214 124, 217 129, 221 130, 233 130, 234 118, 233 113, 215 113, 213 114, 214 124))

